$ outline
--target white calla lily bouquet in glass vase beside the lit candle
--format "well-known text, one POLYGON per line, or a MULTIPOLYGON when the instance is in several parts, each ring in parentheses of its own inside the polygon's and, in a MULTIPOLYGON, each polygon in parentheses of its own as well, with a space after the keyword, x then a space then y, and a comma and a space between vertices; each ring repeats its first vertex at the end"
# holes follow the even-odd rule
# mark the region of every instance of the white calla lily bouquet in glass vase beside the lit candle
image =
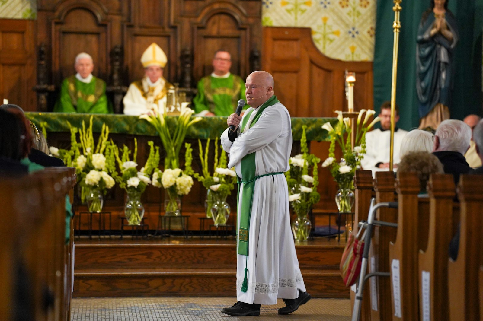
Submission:
MULTIPOLYGON (((337 184, 339 184, 338 195, 342 194, 342 196, 344 196, 354 189, 353 181, 355 170, 360 168, 360 162, 366 153, 366 133, 372 128, 372 126, 374 126, 374 124, 379 122, 379 117, 375 117, 369 125, 366 125, 369 122, 370 117, 375 114, 375 111, 363 109, 359 112, 355 128, 353 149, 353 128, 350 126, 350 118, 343 117, 341 111, 336 111, 336 113, 339 122, 335 128, 328 122, 322 126, 322 129, 327 130, 330 137, 329 157, 322 163, 322 167, 330 166, 330 173, 337 184), (362 121, 364 113, 366 116, 362 121), (342 158, 340 161, 337 161, 335 157, 336 141, 339 143, 342 151, 342 158)), ((336 197, 336 201, 337 199, 338 198, 336 197)), ((337 202, 339 203, 338 207, 340 212, 351 212, 353 201, 350 197, 341 197, 337 202)))

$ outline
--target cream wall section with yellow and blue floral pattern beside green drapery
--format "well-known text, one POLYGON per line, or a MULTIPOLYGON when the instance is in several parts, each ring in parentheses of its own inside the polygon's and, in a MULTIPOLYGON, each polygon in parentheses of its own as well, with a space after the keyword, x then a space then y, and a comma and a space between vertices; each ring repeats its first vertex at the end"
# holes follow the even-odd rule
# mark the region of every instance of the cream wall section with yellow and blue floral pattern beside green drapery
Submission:
POLYGON ((309 27, 317 48, 345 61, 372 61, 376 0, 262 0, 262 25, 309 27))

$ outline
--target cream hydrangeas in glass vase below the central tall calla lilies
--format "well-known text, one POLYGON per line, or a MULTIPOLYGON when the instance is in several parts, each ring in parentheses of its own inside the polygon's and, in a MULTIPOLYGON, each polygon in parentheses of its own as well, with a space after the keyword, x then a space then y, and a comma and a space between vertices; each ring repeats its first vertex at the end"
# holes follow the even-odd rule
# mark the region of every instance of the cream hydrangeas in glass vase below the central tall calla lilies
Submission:
MULTIPOLYGON (((191 161, 193 159, 191 144, 185 143, 185 147, 185 167, 191 168, 191 161)), ((156 166, 152 181, 153 186, 158 188, 163 187, 166 191, 165 215, 181 215, 181 201, 179 198, 189 194, 193 186, 193 178, 186 174, 186 170, 183 172, 181 168, 166 168, 163 172, 156 166)))

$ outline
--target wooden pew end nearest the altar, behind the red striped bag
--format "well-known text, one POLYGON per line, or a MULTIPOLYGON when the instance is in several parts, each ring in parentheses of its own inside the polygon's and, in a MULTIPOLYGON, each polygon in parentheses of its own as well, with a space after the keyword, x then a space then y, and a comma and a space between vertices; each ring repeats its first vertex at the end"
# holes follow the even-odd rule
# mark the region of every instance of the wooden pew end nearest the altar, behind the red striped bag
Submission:
MULTIPOLYGON (((358 222, 367 221, 370 207, 370 199, 372 198, 372 171, 356 170, 354 176, 355 189, 355 217, 354 217, 354 233, 357 234, 358 222)), ((351 307, 354 307, 355 292, 351 289, 351 307)), ((369 287, 364 289, 363 297, 369 298, 369 287)), ((363 300, 361 307, 361 321, 370 320, 370 301, 363 300)))

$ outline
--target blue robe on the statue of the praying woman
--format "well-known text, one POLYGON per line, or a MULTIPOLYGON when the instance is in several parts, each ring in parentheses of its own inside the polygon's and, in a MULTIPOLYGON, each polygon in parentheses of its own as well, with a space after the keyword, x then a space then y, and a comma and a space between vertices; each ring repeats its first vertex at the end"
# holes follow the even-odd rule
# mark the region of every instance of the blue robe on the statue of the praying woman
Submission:
POLYGON ((453 49, 458 42, 458 29, 451 11, 445 13, 446 26, 453 40, 440 32, 431 37, 435 23, 432 11, 423 14, 419 24, 416 44, 416 91, 419 99, 419 117, 426 116, 436 104, 450 107, 450 91, 453 79, 453 49))

